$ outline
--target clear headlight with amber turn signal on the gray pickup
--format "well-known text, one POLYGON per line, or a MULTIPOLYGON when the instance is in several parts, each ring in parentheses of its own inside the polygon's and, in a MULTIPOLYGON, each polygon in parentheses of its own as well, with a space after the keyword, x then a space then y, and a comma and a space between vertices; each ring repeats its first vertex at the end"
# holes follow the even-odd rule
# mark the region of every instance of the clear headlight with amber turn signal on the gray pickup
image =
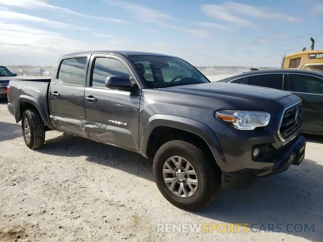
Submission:
POLYGON ((269 124, 270 114, 255 111, 222 110, 216 112, 216 117, 231 123, 240 130, 254 130, 256 127, 265 127, 269 124))

